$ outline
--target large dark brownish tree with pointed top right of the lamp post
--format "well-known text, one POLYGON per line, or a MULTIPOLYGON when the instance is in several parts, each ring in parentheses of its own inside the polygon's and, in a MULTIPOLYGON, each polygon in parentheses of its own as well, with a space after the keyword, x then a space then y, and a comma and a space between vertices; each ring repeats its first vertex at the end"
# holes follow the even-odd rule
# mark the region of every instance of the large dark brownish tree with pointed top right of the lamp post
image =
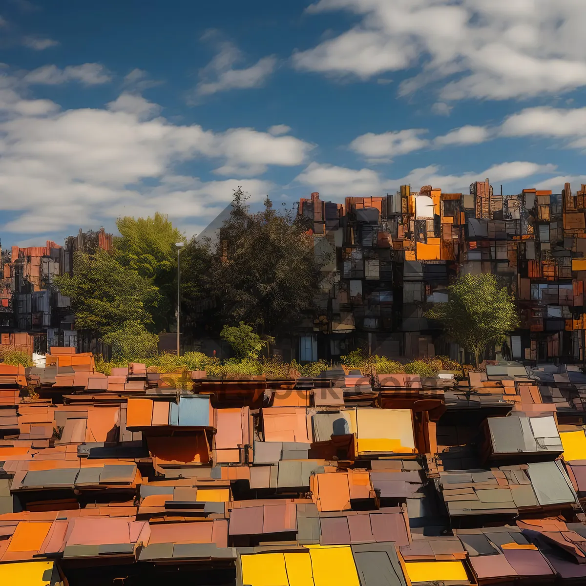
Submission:
POLYGON ((250 213, 239 188, 219 246, 207 253, 200 246, 197 254, 206 276, 182 271, 182 280, 205 281, 223 323, 274 336, 312 306, 320 274, 313 236, 299 217, 276 213, 268 197, 263 211, 250 213))

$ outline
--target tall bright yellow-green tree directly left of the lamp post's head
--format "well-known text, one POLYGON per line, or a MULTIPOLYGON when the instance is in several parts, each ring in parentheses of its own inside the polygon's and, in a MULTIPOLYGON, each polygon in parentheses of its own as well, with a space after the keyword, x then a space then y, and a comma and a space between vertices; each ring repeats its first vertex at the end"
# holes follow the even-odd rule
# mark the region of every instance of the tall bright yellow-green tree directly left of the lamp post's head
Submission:
POLYGON ((186 242, 185 234, 173 226, 168 216, 118 218, 116 227, 121 236, 114 239, 115 257, 124 267, 131 268, 156 285, 161 299, 153 320, 158 331, 169 330, 174 321, 177 290, 177 248, 186 242))

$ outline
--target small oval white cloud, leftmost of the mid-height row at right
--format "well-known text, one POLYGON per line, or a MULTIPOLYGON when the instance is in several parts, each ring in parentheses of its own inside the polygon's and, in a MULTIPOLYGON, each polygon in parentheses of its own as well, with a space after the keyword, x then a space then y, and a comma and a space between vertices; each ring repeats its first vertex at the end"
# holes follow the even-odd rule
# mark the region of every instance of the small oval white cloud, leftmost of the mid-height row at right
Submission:
POLYGON ((427 130, 409 128, 396 132, 374 134, 368 132, 350 142, 350 149, 370 161, 388 161, 396 155, 406 155, 429 145, 429 141, 420 138, 427 130))

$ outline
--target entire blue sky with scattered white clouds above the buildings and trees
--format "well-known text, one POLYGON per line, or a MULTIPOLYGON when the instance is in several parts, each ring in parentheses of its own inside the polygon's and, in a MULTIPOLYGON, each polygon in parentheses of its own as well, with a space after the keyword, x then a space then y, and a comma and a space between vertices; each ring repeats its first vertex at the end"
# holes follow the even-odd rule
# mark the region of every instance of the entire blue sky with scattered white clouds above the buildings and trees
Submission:
POLYGON ((188 236, 243 186, 586 183, 584 0, 4 0, 0 239, 188 236))

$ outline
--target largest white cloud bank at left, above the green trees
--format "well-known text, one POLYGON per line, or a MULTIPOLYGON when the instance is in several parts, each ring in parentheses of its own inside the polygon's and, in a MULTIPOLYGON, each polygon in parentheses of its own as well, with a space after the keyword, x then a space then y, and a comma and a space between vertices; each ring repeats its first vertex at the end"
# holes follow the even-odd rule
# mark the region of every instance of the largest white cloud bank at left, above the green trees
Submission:
POLYGON ((122 93, 107 108, 62 111, 27 100, 19 80, 0 77, 0 210, 6 233, 53 233, 112 225, 119 214, 162 210, 186 226, 212 220, 242 185, 253 200, 274 187, 250 178, 268 166, 305 162, 312 145, 253 128, 225 132, 173 124, 159 107, 122 93), (179 175, 207 159, 224 177, 179 175), (110 224, 108 224, 110 222, 110 224))

